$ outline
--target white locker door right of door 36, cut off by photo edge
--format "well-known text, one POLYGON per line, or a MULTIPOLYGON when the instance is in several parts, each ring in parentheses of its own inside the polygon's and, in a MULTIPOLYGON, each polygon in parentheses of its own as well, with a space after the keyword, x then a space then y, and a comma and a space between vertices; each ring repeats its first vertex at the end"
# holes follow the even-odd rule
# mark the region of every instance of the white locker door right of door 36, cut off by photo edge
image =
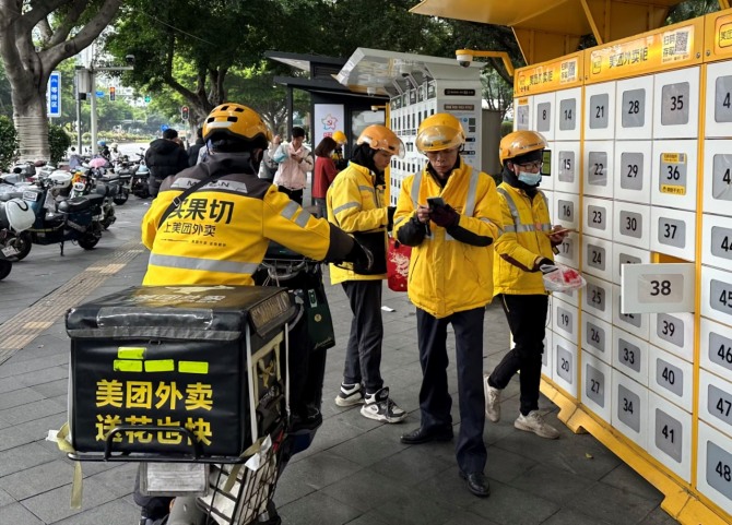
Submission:
POLYGON ((704 212, 732 215, 732 150, 730 141, 704 144, 704 212))

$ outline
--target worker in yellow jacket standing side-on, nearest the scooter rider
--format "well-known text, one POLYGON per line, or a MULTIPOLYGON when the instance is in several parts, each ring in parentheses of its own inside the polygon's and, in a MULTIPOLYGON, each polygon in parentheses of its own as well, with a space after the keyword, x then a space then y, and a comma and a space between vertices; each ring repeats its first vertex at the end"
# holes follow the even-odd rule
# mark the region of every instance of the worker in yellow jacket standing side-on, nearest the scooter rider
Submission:
POLYGON ((345 367, 338 406, 364 403, 361 414, 386 422, 399 422, 406 413, 389 397, 381 378, 381 282, 386 278, 387 229, 391 228, 393 207, 383 200, 383 171, 391 157, 404 156, 404 144, 388 128, 369 126, 358 136, 349 167, 328 189, 328 219, 357 239, 369 239, 374 271, 354 265, 331 265, 332 284, 343 286, 349 296, 353 321, 345 349, 345 367), (364 393, 365 390, 365 393, 364 393))

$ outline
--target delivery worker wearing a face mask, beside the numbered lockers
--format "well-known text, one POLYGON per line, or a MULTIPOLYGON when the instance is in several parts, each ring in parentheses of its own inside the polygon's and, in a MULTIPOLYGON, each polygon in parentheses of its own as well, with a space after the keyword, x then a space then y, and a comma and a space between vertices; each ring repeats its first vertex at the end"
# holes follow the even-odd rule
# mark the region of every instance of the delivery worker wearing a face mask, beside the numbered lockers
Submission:
POLYGON ((552 227, 546 198, 539 190, 544 138, 533 131, 507 134, 499 146, 504 181, 498 186, 504 235, 496 241, 493 271, 496 297, 506 312, 513 348, 491 374, 485 375, 486 416, 500 419, 500 391, 521 371, 519 417, 513 426, 536 435, 556 439, 559 432, 539 413, 539 382, 544 351, 548 296, 542 265, 554 265, 553 249, 566 231, 552 227))

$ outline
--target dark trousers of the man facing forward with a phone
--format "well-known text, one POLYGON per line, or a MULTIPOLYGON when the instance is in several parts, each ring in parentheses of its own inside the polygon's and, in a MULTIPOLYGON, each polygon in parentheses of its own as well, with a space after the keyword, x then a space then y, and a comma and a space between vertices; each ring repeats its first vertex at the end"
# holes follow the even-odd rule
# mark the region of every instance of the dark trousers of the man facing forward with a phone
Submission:
POLYGON ((417 344, 422 365, 420 409, 422 427, 452 425, 447 384, 447 326, 452 324, 458 362, 460 435, 456 443, 458 466, 465 474, 482 473, 487 452, 483 442, 485 395, 483 393, 483 318, 485 308, 456 312, 437 319, 417 308, 417 344))

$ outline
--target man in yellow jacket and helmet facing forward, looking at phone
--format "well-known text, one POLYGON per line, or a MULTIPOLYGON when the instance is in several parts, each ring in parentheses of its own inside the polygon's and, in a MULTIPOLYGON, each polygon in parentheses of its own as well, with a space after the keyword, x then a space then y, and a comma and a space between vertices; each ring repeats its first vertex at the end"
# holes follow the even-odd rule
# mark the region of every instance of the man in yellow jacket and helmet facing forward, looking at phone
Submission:
POLYGON ((493 242, 501 230, 496 184, 460 155, 465 133, 449 114, 420 124, 417 150, 425 168, 402 182, 394 235, 412 248, 409 296, 417 307, 417 344, 422 365, 422 425, 402 443, 452 439, 452 399, 447 383, 447 327, 452 324, 458 363, 460 437, 456 445, 460 475, 475 496, 489 493, 483 473, 485 401, 483 396, 483 318, 493 297, 493 242), (436 200, 437 199, 437 200, 436 200))

